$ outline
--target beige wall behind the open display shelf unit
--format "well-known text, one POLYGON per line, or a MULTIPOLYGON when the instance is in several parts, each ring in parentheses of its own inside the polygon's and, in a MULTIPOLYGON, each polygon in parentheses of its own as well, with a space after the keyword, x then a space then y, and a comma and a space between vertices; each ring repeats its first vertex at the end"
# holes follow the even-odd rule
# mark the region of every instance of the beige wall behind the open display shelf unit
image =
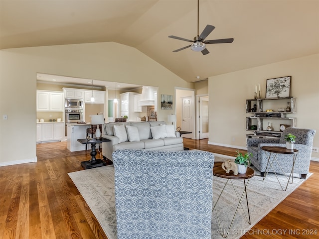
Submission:
POLYGON ((314 146, 319 147, 319 54, 210 77, 209 143, 246 147, 246 117, 251 116, 246 99, 254 98, 258 83, 265 98, 266 80, 282 76, 292 76, 291 96, 297 98, 297 113, 291 116, 297 127, 316 129, 314 146))

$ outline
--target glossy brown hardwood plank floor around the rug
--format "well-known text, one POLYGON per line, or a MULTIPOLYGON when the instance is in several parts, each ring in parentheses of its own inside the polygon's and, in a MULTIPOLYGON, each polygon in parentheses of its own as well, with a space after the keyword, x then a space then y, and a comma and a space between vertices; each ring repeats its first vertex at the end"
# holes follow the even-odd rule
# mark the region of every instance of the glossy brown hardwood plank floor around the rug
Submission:
MULTIPOLYGON (((236 154, 234 148, 208 145, 207 139, 184 138, 184 146, 236 154)), ((107 239, 67 175, 83 170, 80 162, 90 159, 90 151, 70 152, 66 142, 43 143, 37 157, 36 163, 0 167, 0 238, 107 239)), ((313 176, 242 238, 319 238, 318 231, 310 235, 319 230, 319 162, 312 161, 310 171, 313 176)))

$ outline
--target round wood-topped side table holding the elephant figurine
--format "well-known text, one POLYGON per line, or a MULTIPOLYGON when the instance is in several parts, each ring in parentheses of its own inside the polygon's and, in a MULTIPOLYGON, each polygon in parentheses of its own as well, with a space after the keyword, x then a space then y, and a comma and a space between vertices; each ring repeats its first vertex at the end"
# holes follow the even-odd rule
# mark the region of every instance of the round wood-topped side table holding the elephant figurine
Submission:
POLYGON ((226 171, 221 167, 221 164, 222 164, 222 163, 223 163, 223 162, 215 162, 215 163, 214 163, 213 175, 216 176, 216 177, 220 177, 220 178, 226 178, 227 181, 226 181, 226 183, 225 183, 225 185, 224 185, 224 187, 223 187, 221 193, 219 194, 216 203, 215 203, 214 200, 213 200, 213 204, 214 204, 214 205, 213 205, 212 211, 213 211, 214 209, 215 209, 215 211, 216 211, 217 221, 218 221, 219 228, 220 228, 220 230, 221 230, 221 235, 223 236, 223 238, 227 238, 227 236, 228 236, 228 234, 229 234, 229 231, 230 231, 230 228, 231 228, 231 226, 233 225, 235 216, 236 216, 237 211, 238 211, 238 209, 239 209, 240 206, 241 206, 241 208, 243 209, 243 212, 244 212, 244 214, 245 214, 245 217, 246 217, 248 223, 251 224, 251 221, 250 221, 250 213, 249 213, 248 197, 247 197, 247 186, 248 186, 248 184, 249 184, 249 180, 250 180, 252 177, 254 177, 255 171, 254 171, 253 169, 251 169, 251 168, 247 168, 247 172, 246 172, 245 174, 240 174, 240 173, 239 173, 239 174, 237 174, 237 175, 234 175, 232 171, 231 171, 230 173, 226 173, 226 171), (243 180, 243 182, 244 182, 244 191, 241 193, 241 195, 240 195, 240 194, 238 195, 238 193, 237 193, 237 191, 236 191, 236 189, 235 189, 235 187, 234 187, 234 184, 232 183, 232 180, 240 180, 240 179, 243 180), (247 182, 246 182, 246 179, 248 179, 247 182), (238 202, 238 205, 237 205, 237 208, 236 208, 234 217, 233 217, 233 219, 232 219, 232 221, 231 221, 231 223, 230 223, 229 229, 228 229, 227 231, 223 231, 222 228, 221 228, 220 221, 219 221, 219 216, 218 216, 218 212, 217 212, 217 209, 216 209, 216 205, 217 205, 217 203, 218 203, 218 201, 219 201, 219 199, 220 199, 220 196, 223 194, 224 189, 225 189, 226 185, 228 184, 228 182, 230 182, 231 185, 233 186, 234 192, 236 193, 236 196, 237 196, 237 199, 238 199, 239 202, 238 202), (245 213, 245 210, 244 210, 244 208, 243 208, 243 206, 242 206, 242 204, 241 204, 244 195, 246 195, 248 218, 247 218, 247 215, 246 215, 246 213, 245 213), (224 232, 227 232, 227 234, 225 235, 224 232))

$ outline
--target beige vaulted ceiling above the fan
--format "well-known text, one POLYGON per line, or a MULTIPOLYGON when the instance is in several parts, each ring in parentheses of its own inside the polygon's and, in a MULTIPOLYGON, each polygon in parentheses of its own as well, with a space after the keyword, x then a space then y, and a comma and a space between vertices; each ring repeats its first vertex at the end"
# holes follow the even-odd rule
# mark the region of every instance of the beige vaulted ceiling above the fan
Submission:
POLYGON ((175 49, 197 35, 196 0, 0 0, 0 49, 118 42, 187 82, 319 53, 319 0, 200 0, 199 33, 234 38, 209 54, 175 49))

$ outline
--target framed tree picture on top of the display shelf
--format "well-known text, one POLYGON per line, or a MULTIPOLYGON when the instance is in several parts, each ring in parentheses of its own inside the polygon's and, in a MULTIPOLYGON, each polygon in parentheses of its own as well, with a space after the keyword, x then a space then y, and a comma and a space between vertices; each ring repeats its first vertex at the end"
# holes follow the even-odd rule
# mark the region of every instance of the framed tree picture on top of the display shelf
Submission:
POLYGON ((290 97, 291 76, 267 79, 266 99, 290 97))

